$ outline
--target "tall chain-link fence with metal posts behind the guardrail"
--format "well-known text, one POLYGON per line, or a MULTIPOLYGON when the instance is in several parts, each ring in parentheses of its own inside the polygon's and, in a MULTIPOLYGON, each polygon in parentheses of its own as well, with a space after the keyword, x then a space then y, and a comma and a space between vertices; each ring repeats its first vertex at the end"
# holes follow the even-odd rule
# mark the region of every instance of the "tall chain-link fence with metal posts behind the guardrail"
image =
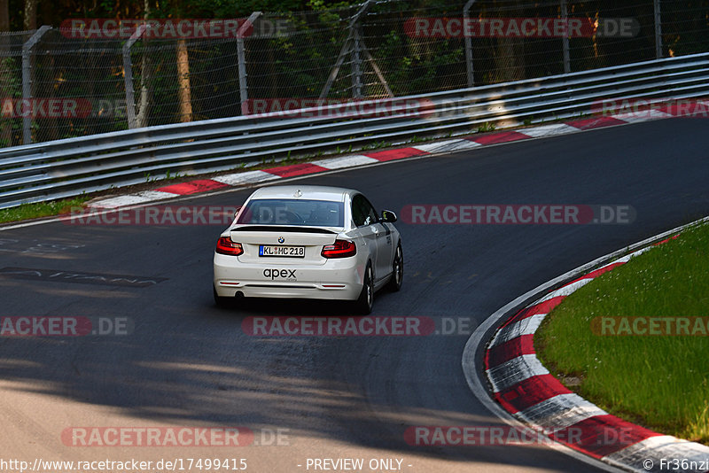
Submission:
POLYGON ((709 0, 375 1, 0 35, 0 143, 350 106, 709 50, 709 0))

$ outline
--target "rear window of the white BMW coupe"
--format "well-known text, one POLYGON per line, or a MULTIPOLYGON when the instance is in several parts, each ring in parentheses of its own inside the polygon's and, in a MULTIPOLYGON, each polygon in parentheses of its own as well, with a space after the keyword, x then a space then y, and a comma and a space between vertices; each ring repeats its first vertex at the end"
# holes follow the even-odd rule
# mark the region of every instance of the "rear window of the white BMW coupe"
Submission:
POLYGON ((249 201, 237 223, 344 227, 345 205, 328 200, 263 198, 249 201))

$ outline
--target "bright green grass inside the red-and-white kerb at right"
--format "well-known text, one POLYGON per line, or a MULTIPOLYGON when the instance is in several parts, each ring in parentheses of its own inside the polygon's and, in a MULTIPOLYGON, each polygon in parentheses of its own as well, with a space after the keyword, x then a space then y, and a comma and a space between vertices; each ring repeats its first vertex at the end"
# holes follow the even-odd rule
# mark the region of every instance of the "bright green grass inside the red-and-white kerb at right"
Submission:
POLYGON ((574 292, 541 324, 544 365, 613 415, 709 445, 709 337, 602 336, 600 316, 709 318, 709 225, 645 252, 574 292), (596 330, 596 333, 599 333, 596 330))

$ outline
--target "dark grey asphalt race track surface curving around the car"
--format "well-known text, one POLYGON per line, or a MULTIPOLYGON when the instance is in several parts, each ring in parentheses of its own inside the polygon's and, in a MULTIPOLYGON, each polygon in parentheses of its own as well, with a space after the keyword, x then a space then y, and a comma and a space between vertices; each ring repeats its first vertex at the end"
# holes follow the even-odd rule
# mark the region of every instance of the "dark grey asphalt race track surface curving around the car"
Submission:
MULTIPOLYGON (((103 316, 133 325, 125 336, 0 337, 3 457, 243 458, 255 472, 314 471, 308 459, 323 458, 363 458, 365 465, 399 459, 400 470, 413 473, 597 470, 548 446, 411 446, 404 432, 417 425, 503 425, 461 371, 471 330, 569 269, 709 214, 705 129, 700 119, 657 120, 295 181, 353 187, 397 213, 417 204, 635 208, 634 222, 616 225, 397 223, 404 285, 399 293, 379 292, 372 315, 470 319, 471 328, 455 335, 246 335, 248 316, 346 309, 283 301, 215 307, 211 265, 222 226, 51 222, 2 231, 0 272, 43 271, 28 279, 0 274, 0 315, 103 316), (66 277, 50 278, 56 271, 66 277), (126 277, 119 285, 67 275, 78 273, 126 277), (128 276, 138 282, 127 283, 128 276), (62 438, 75 427, 119 426, 238 426, 255 439, 251 446, 175 447, 72 446, 62 438)), ((249 193, 175 205, 239 205, 249 193)))

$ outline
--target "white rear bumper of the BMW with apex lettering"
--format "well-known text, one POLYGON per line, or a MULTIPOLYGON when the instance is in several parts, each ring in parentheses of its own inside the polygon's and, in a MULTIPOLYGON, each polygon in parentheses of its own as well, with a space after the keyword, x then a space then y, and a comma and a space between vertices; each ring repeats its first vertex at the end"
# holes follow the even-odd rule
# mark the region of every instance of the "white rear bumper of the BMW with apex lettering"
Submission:
POLYGON ((357 299, 363 266, 357 258, 328 260, 323 265, 241 263, 214 254, 214 289, 220 297, 240 292, 247 298, 357 299))

